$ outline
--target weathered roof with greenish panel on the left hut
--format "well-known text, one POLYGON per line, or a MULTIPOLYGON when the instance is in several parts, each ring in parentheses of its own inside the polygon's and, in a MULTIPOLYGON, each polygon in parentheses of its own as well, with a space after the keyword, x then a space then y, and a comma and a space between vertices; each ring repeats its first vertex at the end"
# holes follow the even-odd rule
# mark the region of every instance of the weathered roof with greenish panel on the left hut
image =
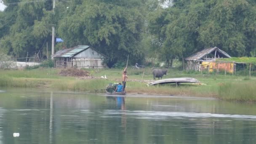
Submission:
POLYGON ((74 48, 57 51, 56 53, 54 53, 53 57, 72 57, 75 56, 77 53, 86 50, 89 47, 89 45, 77 45, 74 48))

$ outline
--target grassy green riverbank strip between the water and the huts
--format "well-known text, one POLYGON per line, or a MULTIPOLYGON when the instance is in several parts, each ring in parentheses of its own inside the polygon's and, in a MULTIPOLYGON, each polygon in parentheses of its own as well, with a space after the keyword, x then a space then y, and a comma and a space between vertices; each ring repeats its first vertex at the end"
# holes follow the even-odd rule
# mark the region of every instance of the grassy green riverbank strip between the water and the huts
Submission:
MULTIPOLYGON (((60 69, 0 70, 0 86, 16 88, 54 88, 61 91, 104 93, 109 83, 121 82, 122 69, 86 69, 89 76, 65 77, 60 69), (106 79, 105 79, 106 75, 106 79), (101 78, 104 77, 104 78, 101 78)), ((193 77, 201 84, 148 86, 152 69, 128 69, 127 93, 212 97, 232 101, 256 101, 256 78, 237 75, 200 74, 169 69, 163 78, 193 77), (144 73, 144 74, 143 74, 144 73), (142 77, 143 75, 143 77, 142 77)))

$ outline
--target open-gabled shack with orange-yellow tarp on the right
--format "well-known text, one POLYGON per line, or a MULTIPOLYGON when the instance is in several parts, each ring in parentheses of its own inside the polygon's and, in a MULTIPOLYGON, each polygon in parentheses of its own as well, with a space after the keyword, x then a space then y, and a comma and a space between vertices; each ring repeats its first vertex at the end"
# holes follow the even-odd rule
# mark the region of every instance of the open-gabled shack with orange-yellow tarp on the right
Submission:
MULTIPOLYGON (((200 71, 203 69, 208 69, 208 71, 213 71, 213 69, 216 69, 215 61, 218 58, 231 58, 231 56, 217 47, 206 48, 187 57, 185 59, 187 61, 186 68, 187 70, 200 71)), ((229 70, 233 71, 233 68, 234 64, 230 64, 229 70)))

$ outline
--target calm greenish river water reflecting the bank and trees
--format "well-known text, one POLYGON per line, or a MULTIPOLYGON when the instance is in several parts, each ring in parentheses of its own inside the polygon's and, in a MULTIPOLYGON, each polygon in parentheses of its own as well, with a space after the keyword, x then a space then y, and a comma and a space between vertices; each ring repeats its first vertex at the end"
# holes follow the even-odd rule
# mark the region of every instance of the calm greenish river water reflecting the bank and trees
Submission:
POLYGON ((256 144, 256 104, 2 90, 0 144, 256 144))

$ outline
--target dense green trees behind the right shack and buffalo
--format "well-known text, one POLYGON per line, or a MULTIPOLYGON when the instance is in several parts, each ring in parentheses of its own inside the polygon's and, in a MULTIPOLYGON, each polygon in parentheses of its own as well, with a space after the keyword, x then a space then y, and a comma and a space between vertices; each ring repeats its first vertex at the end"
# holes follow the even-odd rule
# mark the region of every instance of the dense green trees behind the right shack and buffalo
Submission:
POLYGON ((211 46, 232 56, 251 56, 256 48, 255 5, 252 0, 173 0, 171 7, 151 13, 149 29, 163 40, 165 60, 173 53, 184 61, 211 46))

